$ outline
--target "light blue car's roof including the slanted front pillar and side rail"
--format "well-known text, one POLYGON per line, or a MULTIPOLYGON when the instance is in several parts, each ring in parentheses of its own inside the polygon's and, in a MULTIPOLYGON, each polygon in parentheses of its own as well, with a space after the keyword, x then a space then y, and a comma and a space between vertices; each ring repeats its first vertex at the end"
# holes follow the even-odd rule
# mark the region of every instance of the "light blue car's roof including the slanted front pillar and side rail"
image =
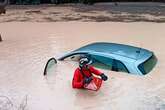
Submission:
POLYGON ((75 54, 100 55, 123 62, 137 61, 137 63, 140 64, 148 59, 152 55, 152 52, 146 49, 124 44, 96 42, 76 49, 62 56, 59 60, 64 60, 65 58, 75 54))

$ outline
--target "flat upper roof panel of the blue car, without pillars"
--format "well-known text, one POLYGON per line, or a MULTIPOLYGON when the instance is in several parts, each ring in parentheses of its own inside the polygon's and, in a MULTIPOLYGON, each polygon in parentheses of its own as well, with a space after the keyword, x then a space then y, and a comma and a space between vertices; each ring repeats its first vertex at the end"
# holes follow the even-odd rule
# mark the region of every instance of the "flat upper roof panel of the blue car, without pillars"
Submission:
MULTIPOLYGON (((137 60, 139 53, 143 51, 148 51, 139 47, 116 44, 116 43, 106 43, 106 42, 97 42, 92 43, 86 46, 83 46, 75 51, 91 51, 91 52, 101 52, 105 54, 114 54, 117 56, 122 56, 126 58, 131 58, 137 60)), ((148 51, 149 52, 149 51, 148 51)))

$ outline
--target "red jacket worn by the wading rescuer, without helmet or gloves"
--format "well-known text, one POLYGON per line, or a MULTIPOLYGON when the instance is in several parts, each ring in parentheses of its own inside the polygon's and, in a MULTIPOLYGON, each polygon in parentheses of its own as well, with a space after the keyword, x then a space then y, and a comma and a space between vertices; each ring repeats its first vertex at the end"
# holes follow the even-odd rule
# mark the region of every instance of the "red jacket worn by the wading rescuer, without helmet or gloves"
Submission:
MULTIPOLYGON (((100 72, 99 70, 96 70, 93 66, 88 66, 87 69, 83 68, 82 71, 83 71, 84 75, 87 77, 91 77, 92 74, 99 75, 99 76, 102 74, 102 72, 100 72)), ((84 86, 83 81, 84 81, 84 76, 81 73, 80 68, 77 68, 74 72, 72 87, 73 88, 83 88, 83 86, 84 86)))

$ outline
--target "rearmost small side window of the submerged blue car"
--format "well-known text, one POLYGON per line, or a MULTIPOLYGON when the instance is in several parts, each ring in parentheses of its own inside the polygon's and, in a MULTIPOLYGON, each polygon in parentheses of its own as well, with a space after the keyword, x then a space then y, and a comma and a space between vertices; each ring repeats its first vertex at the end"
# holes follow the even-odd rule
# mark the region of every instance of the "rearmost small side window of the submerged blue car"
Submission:
POLYGON ((121 72, 129 73, 129 71, 126 68, 126 66, 122 62, 120 62, 119 60, 114 60, 113 61, 112 70, 113 71, 121 71, 121 72))

